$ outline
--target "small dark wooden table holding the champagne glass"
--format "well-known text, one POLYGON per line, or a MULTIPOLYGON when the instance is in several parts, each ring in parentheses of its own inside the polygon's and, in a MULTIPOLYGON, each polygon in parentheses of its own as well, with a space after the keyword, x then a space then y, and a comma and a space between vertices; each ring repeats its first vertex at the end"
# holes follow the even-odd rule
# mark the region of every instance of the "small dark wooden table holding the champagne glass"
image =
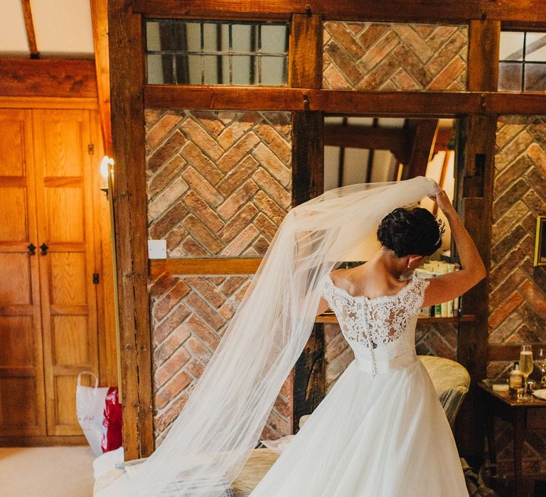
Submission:
POLYGON ((514 476, 515 490, 518 496, 523 496, 521 459, 523 442, 528 430, 546 430, 546 400, 532 397, 530 400, 517 400, 508 392, 496 392, 485 383, 478 387, 486 393, 487 403, 487 442, 489 458, 492 464, 497 462, 495 447, 495 418, 500 417, 511 423, 514 432, 514 476))

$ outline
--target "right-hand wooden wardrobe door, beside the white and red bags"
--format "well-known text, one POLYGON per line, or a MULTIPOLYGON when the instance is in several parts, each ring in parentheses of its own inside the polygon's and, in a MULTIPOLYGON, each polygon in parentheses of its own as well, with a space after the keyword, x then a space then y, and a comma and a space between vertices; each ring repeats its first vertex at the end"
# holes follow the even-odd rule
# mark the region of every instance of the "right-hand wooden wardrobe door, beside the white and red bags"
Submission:
POLYGON ((81 435, 78 373, 98 374, 90 113, 34 110, 48 435, 81 435))

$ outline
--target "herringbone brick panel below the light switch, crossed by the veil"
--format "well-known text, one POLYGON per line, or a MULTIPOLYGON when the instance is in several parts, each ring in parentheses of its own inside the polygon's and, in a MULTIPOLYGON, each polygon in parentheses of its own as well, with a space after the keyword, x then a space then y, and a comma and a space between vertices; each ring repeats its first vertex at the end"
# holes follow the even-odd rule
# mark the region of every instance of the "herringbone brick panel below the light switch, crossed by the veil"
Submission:
MULTIPOLYGON (((186 404, 249 284, 249 276, 173 277, 167 273, 150 282, 157 443, 186 404)), ((289 379, 269 415, 263 438, 290 434, 291 392, 289 379)))

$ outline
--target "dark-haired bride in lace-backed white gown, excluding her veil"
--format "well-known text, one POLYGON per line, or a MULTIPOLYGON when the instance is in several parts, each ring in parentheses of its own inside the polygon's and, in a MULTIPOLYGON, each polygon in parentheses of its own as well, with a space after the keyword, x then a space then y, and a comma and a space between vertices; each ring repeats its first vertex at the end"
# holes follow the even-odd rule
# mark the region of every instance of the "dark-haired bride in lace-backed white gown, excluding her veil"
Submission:
POLYGON ((468 495, 414 335, 420 307, 454 299, 486 271, 446 193, 432 198, 448 219, 463 269, 402 280, 439 249, 443 226, 426 209, 398 208, 382 219, 382 248, 370 261, 324 278, 318 312, 336 313, 355 361, 252 497, 468 495))

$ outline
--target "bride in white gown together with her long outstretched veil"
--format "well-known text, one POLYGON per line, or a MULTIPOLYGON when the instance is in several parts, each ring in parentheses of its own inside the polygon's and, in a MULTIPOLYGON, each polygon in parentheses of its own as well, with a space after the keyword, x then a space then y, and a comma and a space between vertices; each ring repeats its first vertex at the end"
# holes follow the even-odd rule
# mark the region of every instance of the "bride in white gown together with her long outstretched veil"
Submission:
POLYGON ((427 178, 342 187, 291 209, 164 442, 97 495, 228 495, 317 312, 331 307, 355 361, 252 496, 466 496, 414 328, 419 307, 451 300, 484 276, 454 208, 427 178), (439 247, 441 226, 424 209, 395 207, 427 195, 448 219, 462 269, 402 280, 439 247), (377 229, 382 249, 368 263, 333 271, 377 229))

